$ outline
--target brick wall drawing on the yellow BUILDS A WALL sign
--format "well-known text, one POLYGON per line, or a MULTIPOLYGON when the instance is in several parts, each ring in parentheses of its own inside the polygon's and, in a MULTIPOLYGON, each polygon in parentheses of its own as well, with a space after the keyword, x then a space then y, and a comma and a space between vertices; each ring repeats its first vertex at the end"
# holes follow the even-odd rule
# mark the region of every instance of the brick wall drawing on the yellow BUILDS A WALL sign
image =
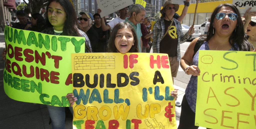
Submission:
POLYGON ((115 56, 76 56, 74 68, 75 70, 115 69, 115 56))

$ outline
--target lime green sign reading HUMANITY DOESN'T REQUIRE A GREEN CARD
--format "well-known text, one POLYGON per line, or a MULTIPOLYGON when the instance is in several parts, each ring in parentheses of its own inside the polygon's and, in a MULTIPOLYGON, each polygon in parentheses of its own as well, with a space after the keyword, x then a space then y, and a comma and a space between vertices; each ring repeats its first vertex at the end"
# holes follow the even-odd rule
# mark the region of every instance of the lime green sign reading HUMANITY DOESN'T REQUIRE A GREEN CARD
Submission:
POLYGON ((5 27, 4 91, 12 99, 69 106, 71 53, 84 53, 84 37, 49 35, 5 27))

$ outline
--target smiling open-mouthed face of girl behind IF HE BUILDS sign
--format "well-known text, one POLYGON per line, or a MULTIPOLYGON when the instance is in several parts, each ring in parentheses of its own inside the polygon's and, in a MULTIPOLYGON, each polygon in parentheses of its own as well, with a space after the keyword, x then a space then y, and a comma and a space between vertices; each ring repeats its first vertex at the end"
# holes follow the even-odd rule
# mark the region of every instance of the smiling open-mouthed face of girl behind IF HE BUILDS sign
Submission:
POLYGON ((115 36, 115 47, 118 52, 125 54, 131 49, 132 45, 134 45, 132 31, 126 27, 119 29, 115 36))

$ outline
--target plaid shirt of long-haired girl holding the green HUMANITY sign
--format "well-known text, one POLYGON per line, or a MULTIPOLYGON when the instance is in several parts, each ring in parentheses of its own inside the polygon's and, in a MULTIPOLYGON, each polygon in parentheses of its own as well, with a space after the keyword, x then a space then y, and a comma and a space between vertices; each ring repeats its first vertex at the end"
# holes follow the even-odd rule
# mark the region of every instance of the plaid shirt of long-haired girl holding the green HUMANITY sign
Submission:
MULTIPOLYGON (((91 46, 91 42, 88 38, 88 36, 86 35, 86 33, 84 33, 83 31, 79 30, 79 33, 81 35, 81 37, 85 37, 85 43, 86 45, 91 49, 92 51, 92 46, 91 46)), ((51 34, 51 35, 55 35, 55 32, 53 30, 53 27, 49 27, 49 28, 46 28, 45 30, 43 30, 41 33, 44 33, 44 34, 51 34)), ((63 35, 63 33, 59 34, 59 35, 63 35)), ((85 53, 90 53, 90 51, 85 47, 85 53)))

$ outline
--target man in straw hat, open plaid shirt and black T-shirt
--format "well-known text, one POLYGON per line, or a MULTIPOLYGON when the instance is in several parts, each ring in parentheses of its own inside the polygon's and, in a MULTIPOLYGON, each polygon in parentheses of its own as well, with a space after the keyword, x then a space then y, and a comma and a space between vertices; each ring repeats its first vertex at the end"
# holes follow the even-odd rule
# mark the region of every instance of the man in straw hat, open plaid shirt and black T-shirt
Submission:
MULTIPOLYGON (((185 5, 189 2, 184 2, 185 5)), ((182 32, 182 26, 174 17, 179 5, 172 0, 165 0, 163 9, 160 10, 162 16, 153 28, 153 53, 165 53, 169 56, 172 80, 177 76, 180 61, 180 45, 191 38, 194 27, 190 27, 186 34, 182 32), (168 31, 167 31, 168 30, 168 31)), ((179 105, 180 106, 180 103, 179 105)))

